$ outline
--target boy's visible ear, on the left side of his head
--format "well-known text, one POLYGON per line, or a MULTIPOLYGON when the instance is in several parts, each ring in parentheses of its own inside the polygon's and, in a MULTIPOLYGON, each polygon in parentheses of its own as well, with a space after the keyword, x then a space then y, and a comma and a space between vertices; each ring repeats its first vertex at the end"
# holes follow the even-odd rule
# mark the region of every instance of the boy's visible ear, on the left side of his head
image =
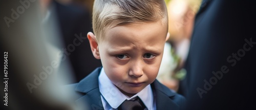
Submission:
POLYGON ((89 42, 90 42, 90 46, 91 46, 91 50, 93 52, 93 56, 96 59, 100 59, 99 48, 98 48, 98 43, 97 43, 97 40, 96 40, 96 36, 92 32, 89 32, 87 34, 87 37, 88 37, 89 42))

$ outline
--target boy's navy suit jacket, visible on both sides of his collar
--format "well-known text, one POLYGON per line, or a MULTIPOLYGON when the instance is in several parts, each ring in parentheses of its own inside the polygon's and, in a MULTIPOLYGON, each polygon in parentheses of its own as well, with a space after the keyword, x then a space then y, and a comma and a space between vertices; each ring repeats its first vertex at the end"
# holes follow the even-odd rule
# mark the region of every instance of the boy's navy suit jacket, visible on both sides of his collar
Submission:
MULTIPOLYGON (((76 103, 86 104, 87 109, 103 109, 98 84, 100 70, 101 68, 97 68, 79 83, 70 85, 77 93, 81 94, 77 97, 76 103)), ((151 87, 155 93, 157 109, 175 110, 185 106, 183 96, 171 92, 157 80, 151 84, 151 87)))

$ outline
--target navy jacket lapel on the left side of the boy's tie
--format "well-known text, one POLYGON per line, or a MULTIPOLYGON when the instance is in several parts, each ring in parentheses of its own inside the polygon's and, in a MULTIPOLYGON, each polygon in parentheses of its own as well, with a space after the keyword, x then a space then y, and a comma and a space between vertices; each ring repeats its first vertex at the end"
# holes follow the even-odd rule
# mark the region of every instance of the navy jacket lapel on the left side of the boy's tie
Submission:
POLYGON ((88 109, 103 109, 101 102, 98 76, 101 68, 95 69, 90 75, 82 79, 76 86, 75 91, 83 93, 81 98, 76 100, 76 104, 86 106, 88 109))

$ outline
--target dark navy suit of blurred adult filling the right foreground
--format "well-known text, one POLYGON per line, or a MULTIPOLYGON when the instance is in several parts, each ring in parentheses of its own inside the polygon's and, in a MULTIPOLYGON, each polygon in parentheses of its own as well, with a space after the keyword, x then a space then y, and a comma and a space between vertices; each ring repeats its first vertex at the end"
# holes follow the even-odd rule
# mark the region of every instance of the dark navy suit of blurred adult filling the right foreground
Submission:
POLYGON ((253 15, 254 1, 202 2, 179 91, 187 109, 255 109, 253 15))

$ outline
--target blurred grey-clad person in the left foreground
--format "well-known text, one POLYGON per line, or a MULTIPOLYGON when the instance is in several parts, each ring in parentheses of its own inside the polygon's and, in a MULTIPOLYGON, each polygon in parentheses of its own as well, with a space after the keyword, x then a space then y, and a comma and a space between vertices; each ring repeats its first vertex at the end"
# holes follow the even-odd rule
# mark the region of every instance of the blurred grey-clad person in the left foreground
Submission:
MULTIPOLYGON (((54 24, 44 24, 45 17, 42 15, 46 14, 42 13, 44 11, 40 9, 39 2, 0 2, 0 16, 4 18, 0 21, 0 45, 1 50, 8 52, 9 78, 5 80, 8 91, 1 92, 1 97, 6 95, 8 104, 2 104, 1 108, 80 109, 73 106, 73 91, 61 87, 72 80, 69 77, 72 74, 69 73, 70 68, 59 66, 61 55, 58 51, 62 46, 61 38, 56 33, 59 28, 55 28, 54 24), (58 77, 59 70, 69 75, 58 77)), ((53 18, 50 17, 48 21, 53 18)))

